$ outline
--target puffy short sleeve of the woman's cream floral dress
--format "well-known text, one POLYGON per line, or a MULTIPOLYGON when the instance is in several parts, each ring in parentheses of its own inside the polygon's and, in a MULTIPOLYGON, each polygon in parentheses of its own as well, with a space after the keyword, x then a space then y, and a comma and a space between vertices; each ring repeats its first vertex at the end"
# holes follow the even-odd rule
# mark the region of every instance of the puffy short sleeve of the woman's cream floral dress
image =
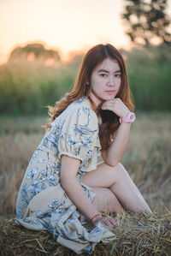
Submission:
POLYGON ((58 158, 78 158, 87 167, 93 154, 100 152, 98 122, 94 111, 85 106, 73 108, 55 126, 58 158))

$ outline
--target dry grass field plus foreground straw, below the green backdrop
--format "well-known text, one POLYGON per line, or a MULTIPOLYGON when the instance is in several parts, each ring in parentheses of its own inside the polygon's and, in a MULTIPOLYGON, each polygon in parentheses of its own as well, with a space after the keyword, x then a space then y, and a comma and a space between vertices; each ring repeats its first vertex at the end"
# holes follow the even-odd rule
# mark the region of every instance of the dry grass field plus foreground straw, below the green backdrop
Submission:
MULTIPOLYGON (((41 126, 46 121, 45 117, 10 118, 3 116, 0 119, 0 214, 2 221, 4 217, 15 217, 18 189, 32 153, 44 136, 41 126)), ((141 215, 129 214, 128 217, 126 213, 118 217, 121 227, 115 232, 118 232, 120 240, 108 247, 108 250, 106 247, 97 246, 94 255, 170 255, 171 113, 137 113, 137 120, 133 123, 127 151, 121 163, 124 164, 133 182, 154 211, 154 216, 145 217, 142 213, 141 215), (140 253, 136 253, 138 251, 140 253)), ((25 234, 21 239, 21 236, 16 234, 14 223, 3 223, 2 227, 1 230, 4 231, 2 231, 2 245, 7 240, 4 234, 10 238, 9 244, 12 241, 15 243, 14 237, 17 237, 17 242, 21 242, 22 248, 24 239, 32 239, 31 246, 28 245, 31 254, 27 255, 74 255, 70 250, 63 251, 64 249, 60 246, 52 252, 52 246, 55 248, 55 245, 52 244, 47 234, 38 236, 39 233, 36 231, 27 232, 20 228, 20 235, 25 234), (51 244, 48 245, 49 240, 51 244), (40 247, 38 249, 38 242, 45 248, 44 250, 40 247)), ((15 246, 13 250, 14 248, 15 246)), ((24 249, 19 251, 19 247, 17 250, 11 255, 26 255, 28 252, 27 247, 25 251, 24 249)), ((8 253, 3 253, 3 255, 8 255, 8 253)))

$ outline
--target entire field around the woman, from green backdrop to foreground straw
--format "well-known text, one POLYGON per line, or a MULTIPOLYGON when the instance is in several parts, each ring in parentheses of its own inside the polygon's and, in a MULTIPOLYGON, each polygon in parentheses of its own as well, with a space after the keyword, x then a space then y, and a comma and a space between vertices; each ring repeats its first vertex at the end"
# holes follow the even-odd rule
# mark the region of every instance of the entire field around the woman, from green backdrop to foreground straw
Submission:
MULTIPOLYGON (((121 50, 136 107, 127 169, 153 214, 114 216, 115 241, 92 255, 171 255, 171 51, 170 46, 121 50), (141 112, 140 112, 141 111, 141 112)), ((32 153, 44 136, 47 105, 71 91, 83 55, 45 66, 17 59, 0 66, 0 252, 9 255, 75 255, 51 234, 19 227, 15 201, 32 153)), ((99 161, 102 159, 99 158, 99 161)), ((85 255, 84 253, 81 255, 85 255)))

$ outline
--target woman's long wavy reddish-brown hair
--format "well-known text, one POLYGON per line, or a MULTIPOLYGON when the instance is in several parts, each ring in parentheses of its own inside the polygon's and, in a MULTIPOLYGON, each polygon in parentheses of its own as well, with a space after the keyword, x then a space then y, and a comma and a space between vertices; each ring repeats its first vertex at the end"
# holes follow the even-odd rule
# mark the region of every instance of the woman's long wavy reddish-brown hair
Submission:
MULTIPOLYGON (((49 106, 48 113, 50 115, 51 122, 53 122, 56 117, 68 107, 69 104, 74 102, 74 100, 81 98, 84 95, 89 98, 92 70, 96 68, 98 63, 102 63, 106 58, 116 60, 121 68, 121 86, 116 97, 121 98, 129 110, 134 110, 127 79, 127 71, 121 53, 110 44, 95 45, 85 54, 85 57, 80 65, 79 73, 74 82, 73 91, 67 93, 60 101, 56 102, 55 107, 49 106)), ((110 110, 99 110, 99 113, 102 117, 102 124, 99 126, 99 139, 102 148, 106 149, 110 145, 112 138, 115 136, 115 133, 119 128, 119 117, 110 110)), ((47 123, 45 130, 47 131, 49 127, 50 123, 47 123)))

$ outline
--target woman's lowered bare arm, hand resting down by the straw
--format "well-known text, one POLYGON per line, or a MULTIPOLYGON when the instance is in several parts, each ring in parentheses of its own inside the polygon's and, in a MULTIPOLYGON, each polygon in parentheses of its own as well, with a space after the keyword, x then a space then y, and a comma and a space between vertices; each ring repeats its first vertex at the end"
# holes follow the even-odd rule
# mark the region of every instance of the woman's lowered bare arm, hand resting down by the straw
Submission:
MULTIPOLYGON (((62 188, 67 193, 68 198, 85 215, 85 217, 91 220, 92 217, 98 214, 98 211, 95 206, 91 204, 91 201, 85 195, 80 182, 78 182, 76 178, 79 166, 79 159, 69 158, 66 155, 62 155, 61 184, 62 188)), ((115 220, 111 217, 94 217, 93 223, 95 226, 98 222, 104 223, 111 228, 116 225, 115 220)))

